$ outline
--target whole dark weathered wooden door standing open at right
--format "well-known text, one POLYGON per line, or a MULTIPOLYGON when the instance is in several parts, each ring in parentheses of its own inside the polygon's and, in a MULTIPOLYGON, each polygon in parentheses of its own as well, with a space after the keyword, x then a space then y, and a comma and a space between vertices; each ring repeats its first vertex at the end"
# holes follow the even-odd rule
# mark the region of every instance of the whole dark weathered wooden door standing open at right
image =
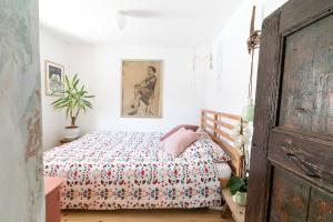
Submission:
POLYGON ((246 221, 333 222, 333 0, 263 23, 246 221))

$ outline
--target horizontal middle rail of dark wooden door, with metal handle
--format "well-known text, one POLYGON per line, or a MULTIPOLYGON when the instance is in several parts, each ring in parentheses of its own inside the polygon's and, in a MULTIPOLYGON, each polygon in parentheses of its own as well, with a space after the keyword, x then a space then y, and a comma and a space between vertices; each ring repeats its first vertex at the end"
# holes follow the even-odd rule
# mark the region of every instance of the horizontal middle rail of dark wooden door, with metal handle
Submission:
POLYGON ((275 128, 269 144, 273 164, 333 192, 333 143, 275 128))

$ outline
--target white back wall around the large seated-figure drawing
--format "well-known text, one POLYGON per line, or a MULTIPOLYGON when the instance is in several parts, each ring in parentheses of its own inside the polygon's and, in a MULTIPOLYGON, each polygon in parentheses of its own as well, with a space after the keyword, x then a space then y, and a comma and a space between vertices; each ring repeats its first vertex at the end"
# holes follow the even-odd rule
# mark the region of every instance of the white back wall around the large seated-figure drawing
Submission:
POLYGON ((79 73, 92 94, 94 109, 81 115, 83 131, 165 131, 179 123, 199 123, 200 97, 195 94, 192 53, 182 49, 71 47, 71 73, 79 73), (162 118, 121 118, 121 60, 164 61, 162 74, 162 118))

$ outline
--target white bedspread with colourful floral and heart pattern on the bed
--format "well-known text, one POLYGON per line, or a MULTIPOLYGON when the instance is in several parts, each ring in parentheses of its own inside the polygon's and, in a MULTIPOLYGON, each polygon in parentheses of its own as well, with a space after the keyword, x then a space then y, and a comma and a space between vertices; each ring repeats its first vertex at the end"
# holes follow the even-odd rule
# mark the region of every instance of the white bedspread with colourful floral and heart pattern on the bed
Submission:
POLYGON ((92 132, 44 153, 44 175, 63 178, 61 209, 220 205, 212 158, 196 141, 173 159, 158 132, 92 132))

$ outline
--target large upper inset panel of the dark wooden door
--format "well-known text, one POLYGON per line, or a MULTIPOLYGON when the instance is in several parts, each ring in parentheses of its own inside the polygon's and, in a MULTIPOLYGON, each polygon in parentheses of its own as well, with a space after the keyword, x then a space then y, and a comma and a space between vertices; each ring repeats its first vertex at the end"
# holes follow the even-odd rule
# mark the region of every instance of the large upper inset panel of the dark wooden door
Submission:
POLYGON ((285 37, 280 125, 333 135, 333 14, 285 37))

